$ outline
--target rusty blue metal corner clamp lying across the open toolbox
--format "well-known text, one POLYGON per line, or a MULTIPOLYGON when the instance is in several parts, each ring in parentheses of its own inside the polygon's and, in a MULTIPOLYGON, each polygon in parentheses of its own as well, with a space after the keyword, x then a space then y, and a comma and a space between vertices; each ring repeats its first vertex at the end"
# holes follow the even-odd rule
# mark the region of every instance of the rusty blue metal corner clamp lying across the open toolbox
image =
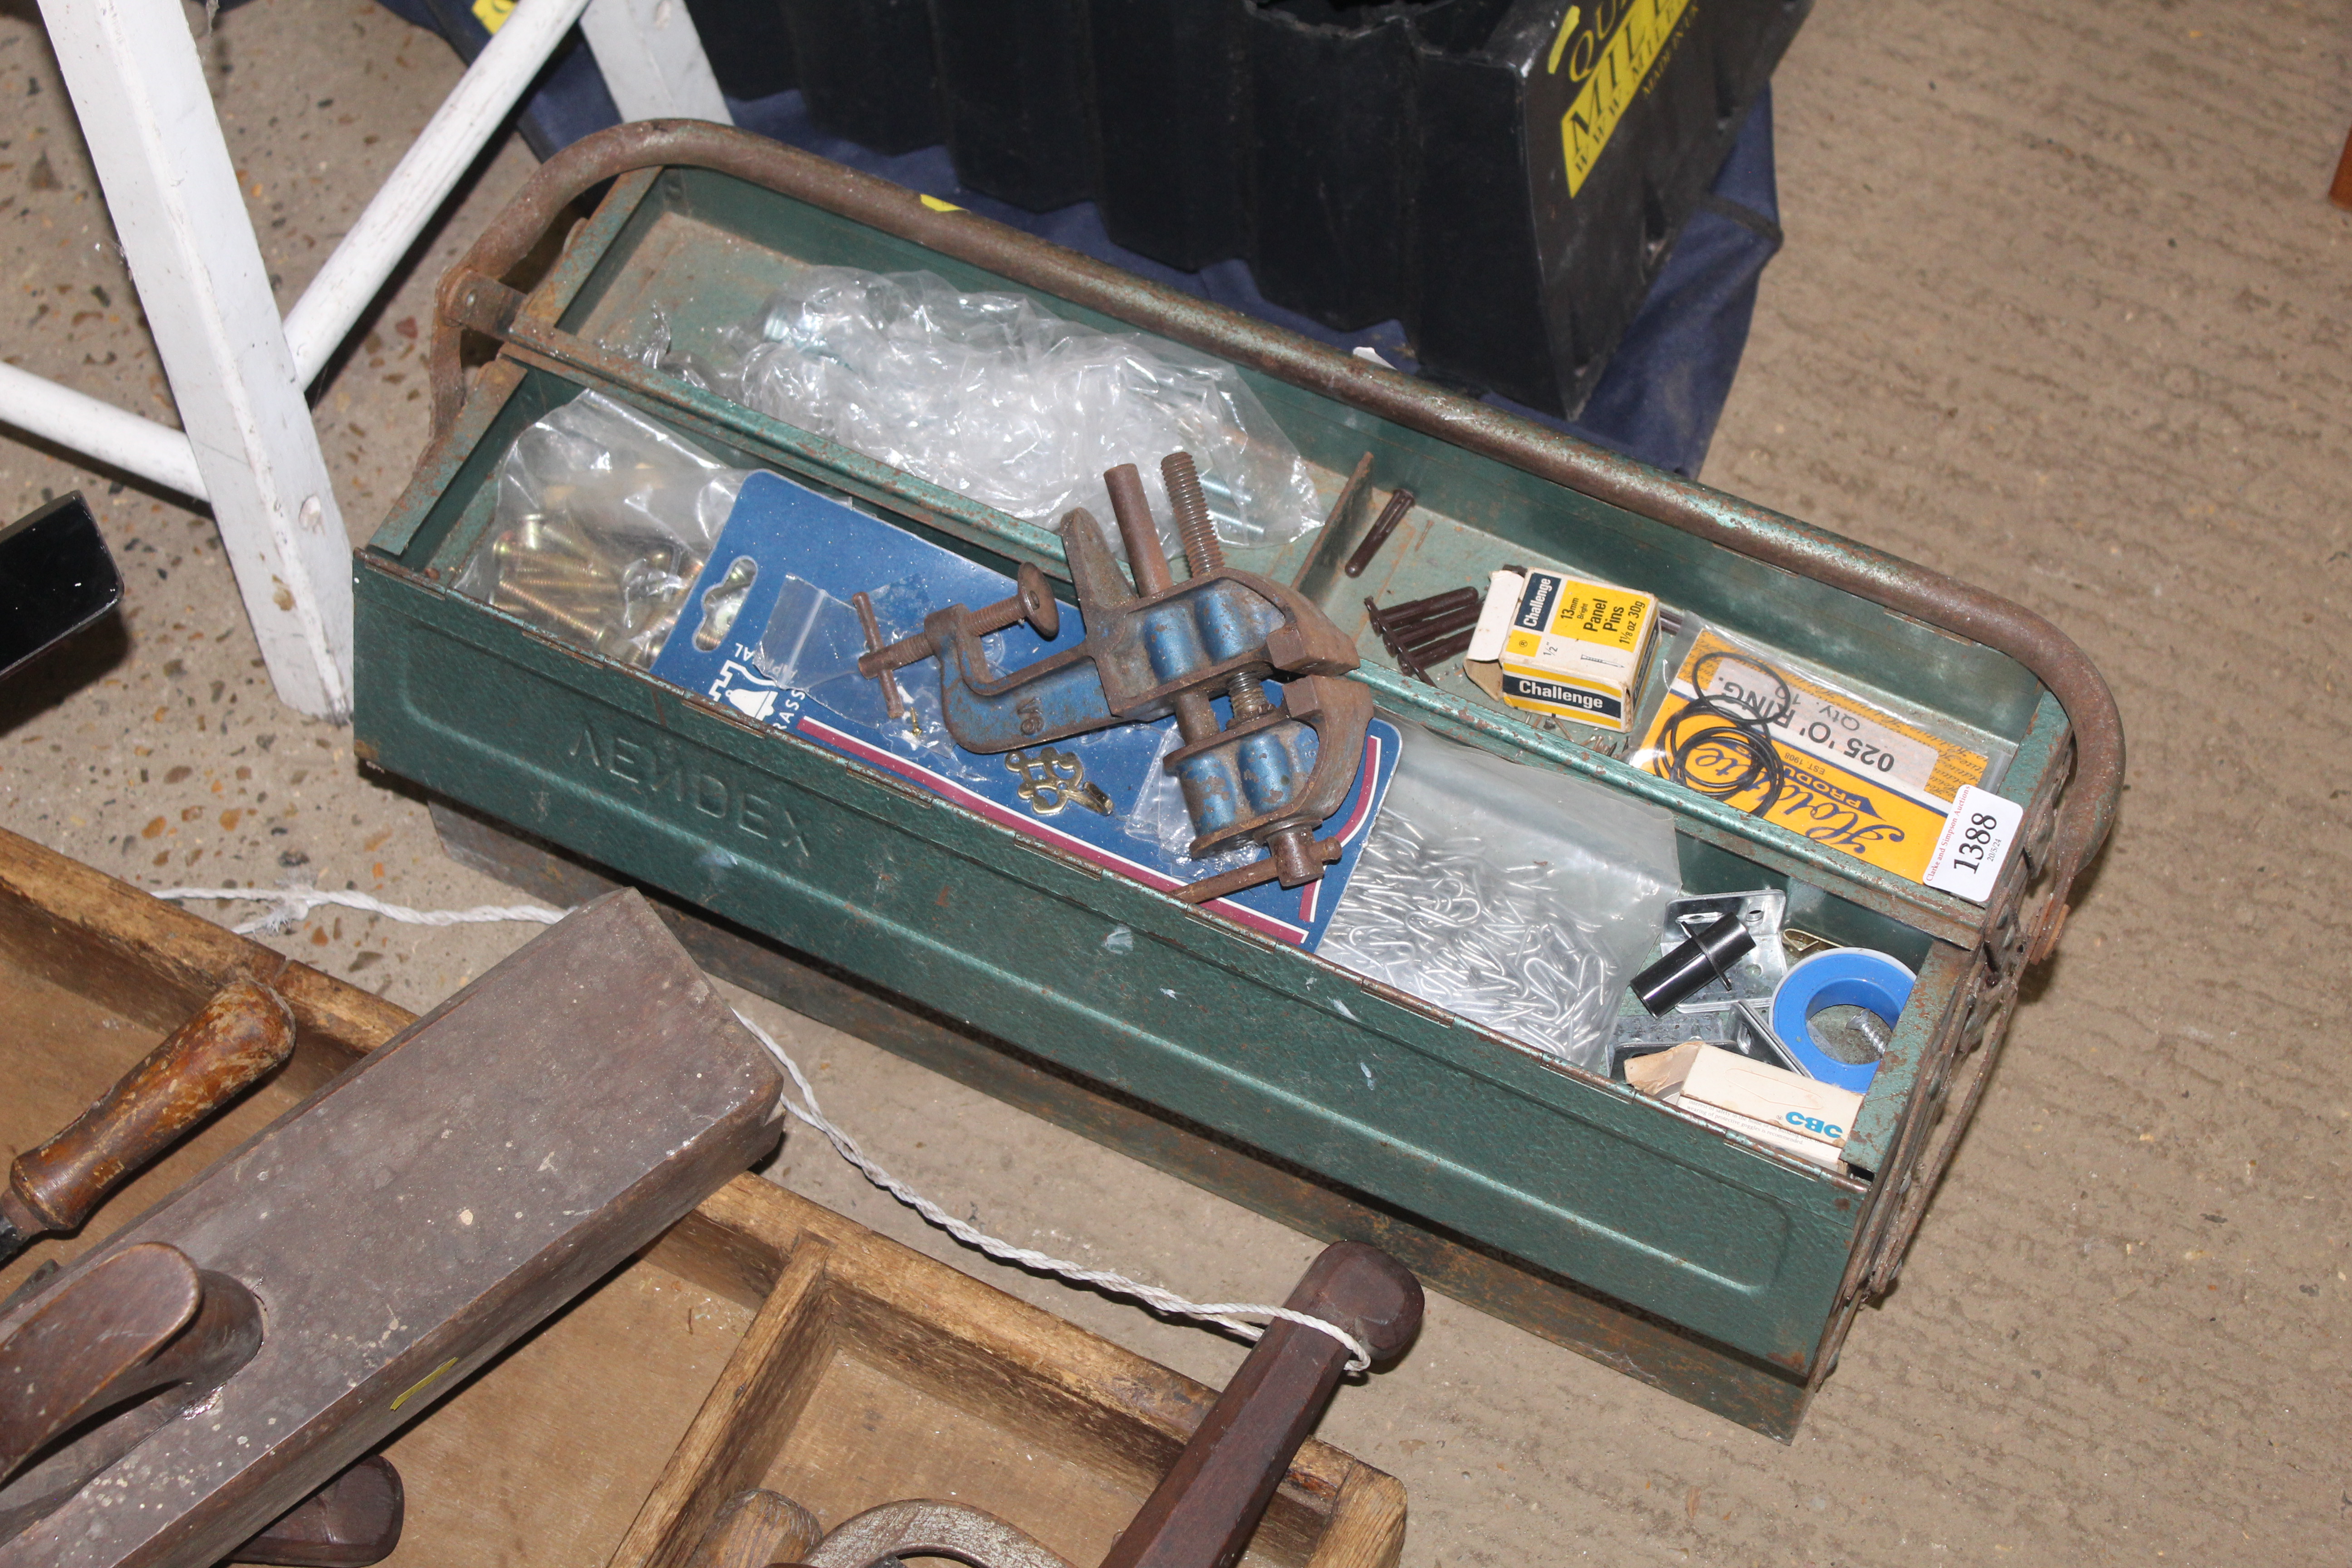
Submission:
POLYGON ((922 632, 868 646, 858 675, 882 679, 889 696, 891 670, 936 658, 948 733, 967 752, 1009 752, 1176 715, 1183 745, 1164 766, 1183 785, 1192 818, 1188 853, 1197 860, 1240 844, 1265 846, 1263 860, 1178 896, 1202 903, 1272 879, 1315 882, 1338 858, 1338 844, 1317 839, 1315 827, 1348 799, 1371 722, 1371 691, 1341 679, 1357 665, 1355 644, 1305 595, 1225 567, 1188 454, 1169 454, 1160 473, 1192 576, 1178 583, 1169 571, 1143 482, 1134 463, 1122 463, 1103 484, 1134 588, 1089 512, 1061 520, 1087 618, 1082 644, 1007 675, 990 668, 985 632, 1028 621, 1051 639, 1061 625, 1044 574, 1021 567, 1011 599, 936 609, 922 632), (1268 677, 1282 679, 1279 703, 1265 696, 1268 677), (1216 696, 1228 698, 1230 724, 1218 724, 1216 696))

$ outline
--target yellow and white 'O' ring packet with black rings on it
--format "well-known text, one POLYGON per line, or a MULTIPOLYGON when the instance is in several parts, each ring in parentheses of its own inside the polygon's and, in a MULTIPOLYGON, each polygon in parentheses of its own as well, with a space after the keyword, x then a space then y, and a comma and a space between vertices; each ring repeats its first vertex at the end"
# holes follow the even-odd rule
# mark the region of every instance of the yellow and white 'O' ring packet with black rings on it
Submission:
MULTIPOLYGON (((1750 726, 1752 729, 1752 726, 1750 726)), ((1816 844, 1919 882, 1959 785, 1990 759, 1715 630, 1691 644, 1635 762, 1816 844), (1700 696, 1719 712, 1693 710, 1700 696), (1778 778, 1724 715, 1764 717, 1778 778)))

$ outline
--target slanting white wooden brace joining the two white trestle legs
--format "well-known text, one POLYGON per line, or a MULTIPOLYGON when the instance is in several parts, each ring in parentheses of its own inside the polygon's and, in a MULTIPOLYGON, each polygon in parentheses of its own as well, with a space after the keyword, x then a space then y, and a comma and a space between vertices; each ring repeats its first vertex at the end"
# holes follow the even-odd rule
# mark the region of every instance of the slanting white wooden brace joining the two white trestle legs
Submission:
MULTIPOLYGON (((45 2, 61 5, 64 0, 45 2)), ((426 129, 367 202, 367 212, 287 310, 285 336, 294 350, 294 374, 301 386, 310 386, 334 357, 336 346, 350 336, 367 301, 383 289, 383 280, 416 244, 416 235, 449 200, 456 181, 513 113, 532 78, 548 63, 555 45, 564 40, 583 9, 588 9, 588 0, 522 0, 466 68, 456 89, 433 110, 426 129)), ((684 7, 680 7, 682 14, 684 7)), ((691 24, 687 24, 687 33, 691 40, 691 24)), ((701 59, 699 40, 694 54, 701 59)), ((708 61, 703 75, 710 75, 708 61)))

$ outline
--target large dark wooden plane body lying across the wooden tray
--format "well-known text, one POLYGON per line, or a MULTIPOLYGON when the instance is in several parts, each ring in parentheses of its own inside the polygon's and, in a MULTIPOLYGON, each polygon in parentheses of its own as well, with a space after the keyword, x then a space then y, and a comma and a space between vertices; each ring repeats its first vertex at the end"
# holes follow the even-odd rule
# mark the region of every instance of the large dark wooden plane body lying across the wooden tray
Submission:
POLYGON ((165 1244, 263 1326, 200 1420, 0 1488, 0 1568, 212 1568, 767 1154, 781 1086, 642 896, 574 912, 0 1316, 165 1244))

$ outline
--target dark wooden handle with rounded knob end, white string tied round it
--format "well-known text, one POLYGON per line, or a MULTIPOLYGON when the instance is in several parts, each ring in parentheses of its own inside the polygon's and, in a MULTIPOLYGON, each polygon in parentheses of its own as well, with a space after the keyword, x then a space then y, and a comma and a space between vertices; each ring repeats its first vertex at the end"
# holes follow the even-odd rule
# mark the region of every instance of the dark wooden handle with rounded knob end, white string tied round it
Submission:
MULTIPOLYGON (((1345 1328, 1376 1361, 1421 1328, 1421 1281, 1362 1241, 1327 1246, 1284 1305, 1345 1328)), ((1348 1347, 1329 1333, 1270 1326, 1103 1568, 1230 1568, 1345 1366, 1348 1347)))

